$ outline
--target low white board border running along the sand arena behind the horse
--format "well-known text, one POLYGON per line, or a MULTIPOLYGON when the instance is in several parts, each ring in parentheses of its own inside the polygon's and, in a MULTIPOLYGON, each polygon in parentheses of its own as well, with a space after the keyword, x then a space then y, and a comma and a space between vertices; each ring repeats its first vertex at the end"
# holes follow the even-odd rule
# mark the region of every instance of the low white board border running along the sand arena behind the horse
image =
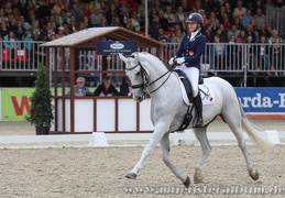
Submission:
MULTIPOLYGON (((263 133, 273 144, 281 144, 281 140, 285 140, 285 132, 274 130, 263 133)), ((32 144, 32 143, 61 143, 59 146, 67 146, 69 142, 85 142, 83 146, 103 147, 109 146, 108 141, 149 141, 152 133, 105 133, 94 132, 92 134, 66 134, 66 135, 3 135, 0 136, 1 144, 32 144), (88 143, 88 144, 87 144, 88 143)), ((231 132, 209 132, 207 134, 209 141, 237 141, 231 132)), ((245 140, 249 140, 246 133, 243 133, 245 140)), ((194 145, 198 142, 191 130, 184 132, 175 132, 169 135, 173 145, 194 145)), ((229 145, 228 143, 223 143, 229 145)), ((120 144, 121 145, 121 144, 120 144)), ((116 146, 120 146, 116 145, 116 146)), ((222 144, 219 144, 222 145, 222 144)), ((121 145, 125 146, 125 145, 121 145)), ((1 146, 3 147, 3 146, 1 146)), ((7 147, 7 146, 6 146, 7 147)), ((40 146, 42 147, 42 146, 40 146)), ((52 147, 48 145, 48 147, 52 147)), ((56 146, 58 147, 58 145, 56 146)))

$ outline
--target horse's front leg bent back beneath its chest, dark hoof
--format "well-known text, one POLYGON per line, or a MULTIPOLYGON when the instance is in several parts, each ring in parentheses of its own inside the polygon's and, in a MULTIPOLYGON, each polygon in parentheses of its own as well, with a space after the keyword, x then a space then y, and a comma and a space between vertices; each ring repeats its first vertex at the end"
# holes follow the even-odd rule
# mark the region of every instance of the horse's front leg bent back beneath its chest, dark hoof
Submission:
POLYGON ((163 153, 163 162, 165 165, 174 173, 176 177, 178 177, 186 188, 190 185, 190 178, 188 175, 184 174, 180 169, 178 169, 171 161, 169 161, 169 133, 165 133, 161 140, 162 153, 163 153))

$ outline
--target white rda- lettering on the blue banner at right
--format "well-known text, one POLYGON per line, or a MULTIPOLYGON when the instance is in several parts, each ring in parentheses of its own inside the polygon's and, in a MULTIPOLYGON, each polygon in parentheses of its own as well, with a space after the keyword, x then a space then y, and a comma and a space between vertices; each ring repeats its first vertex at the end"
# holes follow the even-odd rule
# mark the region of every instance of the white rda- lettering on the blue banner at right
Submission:
POLYGON ((278 94, 279 100, 272 100, 270 97, 262 97, 259 92, 254 97, 239 97, 243 108, 272 108, 278 105, 278 108, 285 108, 285 94, 278 94))

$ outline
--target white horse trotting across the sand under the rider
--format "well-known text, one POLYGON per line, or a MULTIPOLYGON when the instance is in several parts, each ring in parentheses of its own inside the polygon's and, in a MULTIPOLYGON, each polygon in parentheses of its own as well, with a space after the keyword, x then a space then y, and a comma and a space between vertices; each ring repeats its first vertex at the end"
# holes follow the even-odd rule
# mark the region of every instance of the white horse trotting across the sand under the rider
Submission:
MULTIPOLYGON (((145 158, 160 142, 164 163, 182 180, 185 187, 188 187, 190 185, 189 176, 169 161, 169 132, 174 132, 180 127, 187 111, 187 105, 183 100, 177 75, 169 72, 157 57, 145 52, 133 53, 128 58, 122 54, 119 54, 119 56, 125 63, 125 73, 132 82, 133 99, 141 102, 145 99, 145 94, 150 94, 151 120, 154 125, 152 139, 144 147, 140 161, 125 177, 136 178, 145 158)), ((244 155, 249 175, 253 180, 257 180, 259 173, 253 168, 246 152, 242 127, 249 136, 262 148, 270 147, 272 144, 246 119, 235 91, 228 81, 219 77, 210 77, 205 78, 205 85, 215 91, 216 101, 212 105, 204 105, 204 127, 194 128, 194 133, 202 150, 201 156, 195 167, 194 183, 201 183, 204 179, 202 167, 211 152, 206 131, 207 127, 217 116, 221 116, 223 121, 230 127, 244 155)), ((191 127, 193 121, 188 128, 191 127)))

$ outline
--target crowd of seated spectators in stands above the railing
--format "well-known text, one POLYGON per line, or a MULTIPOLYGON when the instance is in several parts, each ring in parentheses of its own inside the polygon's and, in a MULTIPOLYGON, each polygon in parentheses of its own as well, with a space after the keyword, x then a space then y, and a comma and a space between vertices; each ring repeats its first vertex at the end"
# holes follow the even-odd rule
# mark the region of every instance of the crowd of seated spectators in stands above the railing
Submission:
MULTIPOLYGON (((1 3, 1 40, 51 41, 53 36, 58 38, 97 26, 123 26, 141 34, 145 31, 145 0, 42 0, 40 4, 33 0, 25 3, 8 0, 1 3)), ((283 6, 283 0, 149 0, 149 36, 166 43, 179 42, 186 33, 188 14, 199 12, 205 19, 207 42, 215 42, 215 35, 221 42, 229 42, 232 35, 237 42, 246 42, 249 35, 254 42, 263 35, 272 42, 278 36, 277 30, 271 30, 265 10, 283 6)))

